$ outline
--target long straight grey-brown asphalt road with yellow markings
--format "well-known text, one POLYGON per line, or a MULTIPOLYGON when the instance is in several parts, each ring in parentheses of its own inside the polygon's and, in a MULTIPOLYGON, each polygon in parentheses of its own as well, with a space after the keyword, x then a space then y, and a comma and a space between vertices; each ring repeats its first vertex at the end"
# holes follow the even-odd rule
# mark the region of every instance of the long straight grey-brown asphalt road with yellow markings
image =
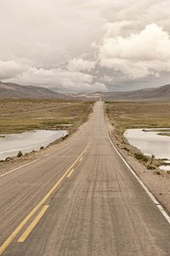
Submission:
POLYGON ((170 224, 111 145, 102 102, 65 143, 0 177, 0 255, 170 255, 170 224))

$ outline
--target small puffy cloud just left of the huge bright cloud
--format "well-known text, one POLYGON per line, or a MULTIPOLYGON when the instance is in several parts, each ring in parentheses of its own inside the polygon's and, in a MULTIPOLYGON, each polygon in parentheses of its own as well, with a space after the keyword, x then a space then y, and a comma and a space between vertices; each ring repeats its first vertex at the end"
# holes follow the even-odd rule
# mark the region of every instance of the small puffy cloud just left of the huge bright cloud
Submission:
POLYGON ((96 66, 96 61, 83 60, 82 58, 73 58, 67 68, 69 71, 91 71, 96 66))

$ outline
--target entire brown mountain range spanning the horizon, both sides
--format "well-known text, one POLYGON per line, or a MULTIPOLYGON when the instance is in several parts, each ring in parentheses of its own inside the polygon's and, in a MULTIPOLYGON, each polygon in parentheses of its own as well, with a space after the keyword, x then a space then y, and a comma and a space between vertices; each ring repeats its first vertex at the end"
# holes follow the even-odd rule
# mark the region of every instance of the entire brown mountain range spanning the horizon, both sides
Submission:
POLYGON ((132 91, 114 91, 114 92, 82 92, 78 94, 60 94, 44 87, 31 85, 19 85, 0 82, 0 96, 5 97, 41 97, 57 99, 80 99, 80 100, 98 100, 105 101, 166 101, 170 102, 170 84, 132 91))

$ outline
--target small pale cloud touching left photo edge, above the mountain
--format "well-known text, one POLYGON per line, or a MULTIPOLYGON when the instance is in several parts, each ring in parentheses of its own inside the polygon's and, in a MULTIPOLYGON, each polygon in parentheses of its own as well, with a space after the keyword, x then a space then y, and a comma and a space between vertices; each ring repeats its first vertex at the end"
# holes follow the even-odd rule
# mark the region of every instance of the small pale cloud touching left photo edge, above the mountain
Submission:
POLYGON ((15 61, 0 61, 0 79, 13 79, 24 73, 28 67, 15 61))

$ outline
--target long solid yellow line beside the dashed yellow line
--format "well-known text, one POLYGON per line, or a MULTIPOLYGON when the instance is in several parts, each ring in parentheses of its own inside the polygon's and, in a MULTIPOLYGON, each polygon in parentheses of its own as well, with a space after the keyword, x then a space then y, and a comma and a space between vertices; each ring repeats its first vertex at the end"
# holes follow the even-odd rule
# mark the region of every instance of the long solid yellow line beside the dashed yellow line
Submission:
MULTIPOLYGON (((86 151, 86 149, 88 148, 89 143, 87 145, 86 148, 84 148, 84 150, 82 151, 82 154, 86 151)), ((79 155, 79 157, 77 158, 77 160, 72 164, 72 166, 63 174, 62 177, 59 178, 59 181, 57 183, 54 184, 54 187, 52 189, 49 190, 48 194, 45 195, 42 199, 42 201, 40 201, 37 204, 37 207, 35 207, 27 216, 26 218, 20 223, 20 225, 14 230, 14 232, 8 236, 7 240, 3 242, 3 245, 0 247, 0 255, 3 253, 3 251, 6 249, 6 247, 8 247, 9 243, 14 239, 14 237, 19 233, 19 231, 22 229, 22 227, 27 223, 27 221, 31 218, 31 216, 37 212, 37 210, 42 206, 42 204, 48 199, 48 197, 54 192, 54 189, 57 188, 57 186, 59 185, 59 183, 63 180, 63 178, 66 176, 66 174, 68 172, 71 171, 71 168, 77 163, 77 161, 82 157, 82 154, 79 155)))

